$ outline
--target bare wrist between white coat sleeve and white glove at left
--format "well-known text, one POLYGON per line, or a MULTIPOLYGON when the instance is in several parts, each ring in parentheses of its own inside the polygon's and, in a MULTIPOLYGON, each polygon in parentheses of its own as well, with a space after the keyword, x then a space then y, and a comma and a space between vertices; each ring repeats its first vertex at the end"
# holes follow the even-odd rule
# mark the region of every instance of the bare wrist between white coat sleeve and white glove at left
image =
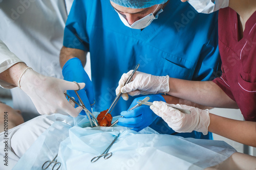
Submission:
POLYGON ((7 70, 1 72, 0 79, 14 86, 18 86, 18 79, 27 67, 28 66, 23 62, 14 64, 7 70))

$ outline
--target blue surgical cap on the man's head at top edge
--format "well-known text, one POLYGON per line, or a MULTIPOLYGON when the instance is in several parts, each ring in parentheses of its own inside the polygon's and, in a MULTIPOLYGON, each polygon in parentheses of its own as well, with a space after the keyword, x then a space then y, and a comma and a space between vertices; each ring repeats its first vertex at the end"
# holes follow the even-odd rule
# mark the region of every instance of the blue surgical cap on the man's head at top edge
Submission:
POLYGON ((148 8, 156 4, 164 4, 168 0, 111 0, 113 3, 127 8, 148 8))

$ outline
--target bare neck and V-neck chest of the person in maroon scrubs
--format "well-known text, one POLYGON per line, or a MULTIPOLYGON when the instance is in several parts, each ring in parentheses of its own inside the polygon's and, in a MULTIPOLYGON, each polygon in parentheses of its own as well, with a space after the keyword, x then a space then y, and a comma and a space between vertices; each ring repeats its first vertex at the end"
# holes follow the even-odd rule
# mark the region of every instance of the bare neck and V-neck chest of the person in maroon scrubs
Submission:
POLYGON ((239 14, 241 24, 243 26, 243 31, 244 31, 246 21, 256 11, 256 1, 255 0, 229 0, 229 7, 239 14))

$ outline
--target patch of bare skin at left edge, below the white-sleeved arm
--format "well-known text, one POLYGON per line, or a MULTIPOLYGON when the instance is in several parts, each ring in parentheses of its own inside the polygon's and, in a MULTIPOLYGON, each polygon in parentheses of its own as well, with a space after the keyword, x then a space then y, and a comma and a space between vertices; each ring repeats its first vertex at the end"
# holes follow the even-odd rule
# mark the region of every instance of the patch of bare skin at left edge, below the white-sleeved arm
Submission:
POLYGON ((19 110, 14 110, 10 106, 4 103, 0 103, 0 132, 3 132, 5 130, 4 129, 5 122, 6 122, 6 127, 8 127, 8 130, 9 130, 15 126, 18 126, 24 123, 24 119, 19 110), (7 114, 5 114, 5 112, 7 112, 7 114), (8 116, 5 116, 5 115, 8 115, 8 116))

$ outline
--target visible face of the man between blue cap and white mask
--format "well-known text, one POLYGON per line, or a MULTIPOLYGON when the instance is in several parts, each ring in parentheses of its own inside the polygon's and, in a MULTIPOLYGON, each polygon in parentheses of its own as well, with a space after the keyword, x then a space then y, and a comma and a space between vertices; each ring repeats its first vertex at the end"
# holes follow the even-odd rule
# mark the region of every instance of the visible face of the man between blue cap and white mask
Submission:
POLYGON ((134 9, 134 8, 122 7, 113 2, 110 2, 110 3, 113 6, 113 8, 115 8, 115 10, 117 10, 120 14, 123 15, 123 17, 129 22, 130 25, 132 25, 135 21, 145 17, 146 15, 153 13, 158 6, 156 4, 149 8, 134 9))

